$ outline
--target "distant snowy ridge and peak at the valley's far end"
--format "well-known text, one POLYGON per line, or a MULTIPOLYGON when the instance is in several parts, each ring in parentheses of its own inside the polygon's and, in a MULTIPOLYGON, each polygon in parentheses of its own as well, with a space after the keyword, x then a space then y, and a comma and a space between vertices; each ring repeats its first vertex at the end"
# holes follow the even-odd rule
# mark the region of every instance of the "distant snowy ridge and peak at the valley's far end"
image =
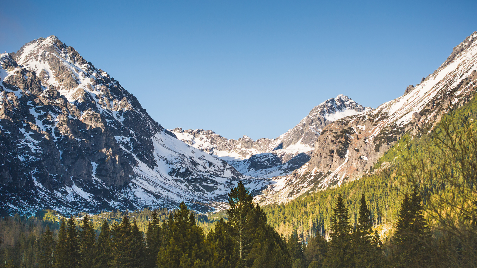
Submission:
POLYGON ((171 130, 185 143, 227 160, 240 173, 271 178, 288 175, 310 160, 321 130, 328 124, 366 111, 345 95, 338 95, 315 106, 299 124, 275 139, 256 141, 248 136, 238 140, 224 138, 211 130, 176 128, 171 130))

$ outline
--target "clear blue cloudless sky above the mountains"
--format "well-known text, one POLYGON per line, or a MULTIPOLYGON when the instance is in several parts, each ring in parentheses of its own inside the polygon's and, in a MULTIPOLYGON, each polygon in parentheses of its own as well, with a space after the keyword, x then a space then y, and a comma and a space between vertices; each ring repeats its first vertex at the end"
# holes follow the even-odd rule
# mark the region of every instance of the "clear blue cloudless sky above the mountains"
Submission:
POLYGON ((275 138, 345 94, 377 107, 477 31, 477 1, 0 0, 0 51, 56 35, 166 128, 275 138))

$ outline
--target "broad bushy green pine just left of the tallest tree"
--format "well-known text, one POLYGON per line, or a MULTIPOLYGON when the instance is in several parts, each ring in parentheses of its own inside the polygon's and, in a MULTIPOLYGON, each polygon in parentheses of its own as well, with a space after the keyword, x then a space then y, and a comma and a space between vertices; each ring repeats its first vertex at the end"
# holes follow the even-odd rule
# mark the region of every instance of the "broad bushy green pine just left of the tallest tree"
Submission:
POLYGON ((157 256, 159 268, 209 267, 210 248, 202 228, 196 225, 194 214, 181 202, 173 218, 169 218, 169 241, 157 256))

